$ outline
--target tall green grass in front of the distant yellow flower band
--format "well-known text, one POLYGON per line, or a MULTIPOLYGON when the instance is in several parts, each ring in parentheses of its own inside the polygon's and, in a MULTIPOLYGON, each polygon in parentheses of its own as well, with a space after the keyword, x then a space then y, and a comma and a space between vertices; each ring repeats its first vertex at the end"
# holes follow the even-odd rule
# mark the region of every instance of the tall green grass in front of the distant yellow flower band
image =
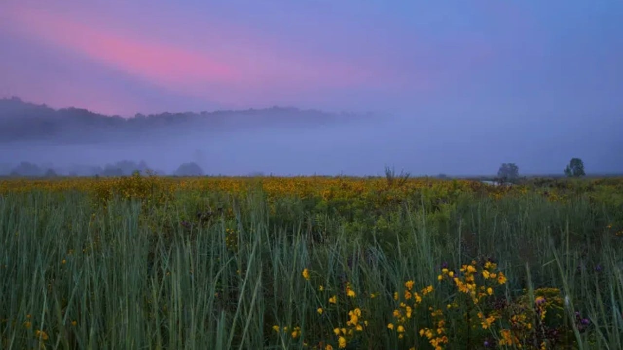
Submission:
MULTIPOLYGON (((233 214, 200 224, 198 202, 184 194, 156 210, 120 200, 94 210, 80 192, 0 197, 0 348, 338 348, 333 329, 346 327, 348 311, 359 307, 368 325, 348 348, 429 349, 417 334, 432 325, 427 306, 457 298, 437 281, 441 265, 480 258, 495 260, 508 277, 497 298, 561 290, 568 303, 556 322, 568 332, 559 346, 623 348, 623 238, 606 229, 623 224, 620 204, 465 194, 435 209, 414 198, 364 222, 297 199, 278 201, 271 214, 260 192, 202 201, 233 214), (402 293, 407 280, 435 292, 397 339, 387 324, 395 322, 394 291, 402 293), (578 328, 576 311, 587 327, 578 328), (37 339, 37 329, 48 339, 37 339)), ((499 338, 500 328, 466 333, 464 319, 448 317, 447 349, 499 338)))

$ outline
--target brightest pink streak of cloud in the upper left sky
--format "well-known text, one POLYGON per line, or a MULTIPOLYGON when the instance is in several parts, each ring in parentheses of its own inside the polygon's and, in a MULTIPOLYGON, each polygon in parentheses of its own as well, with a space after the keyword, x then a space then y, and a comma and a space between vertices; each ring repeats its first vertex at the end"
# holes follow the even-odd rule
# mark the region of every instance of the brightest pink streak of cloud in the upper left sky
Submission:
POLYGON ((99 31, 44 11, 18 9, 16 14, 29 34, 152 82, 184 86, 239 78, 231 64, 206 55, 99 31))

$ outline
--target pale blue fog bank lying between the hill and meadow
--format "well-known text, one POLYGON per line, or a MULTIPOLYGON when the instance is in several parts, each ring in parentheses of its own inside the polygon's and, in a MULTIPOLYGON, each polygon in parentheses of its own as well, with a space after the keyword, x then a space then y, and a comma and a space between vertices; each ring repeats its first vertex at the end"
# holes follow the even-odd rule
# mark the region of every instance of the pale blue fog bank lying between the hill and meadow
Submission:
POLYGON ((507 162, 518 164, 521 174, 561 174, 572 157, 584 160, 587 173, 621 171, 623 159, 616 151, 621 142, 612 128, 545 130, 535 124, 445 125, 410 116, 375 116, 316 127, 191 129, 141 135, 140 141, 17 141, 0 143, 0 172, 10 173, 27 161, 58 174, 88 174, 85 166, 103 168, 128 160, 145 161, 165 174, 189 162, 199 164, 205 174, 243 176, 379 175, 386 165, 413 175, 477 175, 495 174, 507 162))

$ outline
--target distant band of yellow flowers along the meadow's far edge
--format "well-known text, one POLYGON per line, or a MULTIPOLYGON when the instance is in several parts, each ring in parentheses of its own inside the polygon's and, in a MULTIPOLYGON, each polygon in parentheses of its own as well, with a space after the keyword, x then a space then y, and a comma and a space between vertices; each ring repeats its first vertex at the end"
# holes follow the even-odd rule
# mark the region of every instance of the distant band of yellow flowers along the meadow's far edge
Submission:
POLYGON ((140 199, 149 204, 159 204, 171 199, 179 191, 244 195, 258 186, 267 194, 270 202, 280 197, 295 196, 317 197, 323 201, 373 201, 378 206, 400 202, 416 191, 437 199, 467 192, 501 198, 510 192, 525 194, 528 191, 525 186, 487 186, 478 181, 430 178, 391 182, 383 177, 161 177, 136 173, 131 176, 98 178, 9 179, 0 181, 0 194, 32 189, 54 192, 78 190, 92 193, 103 205, 115 195, 123 199, 140 199))

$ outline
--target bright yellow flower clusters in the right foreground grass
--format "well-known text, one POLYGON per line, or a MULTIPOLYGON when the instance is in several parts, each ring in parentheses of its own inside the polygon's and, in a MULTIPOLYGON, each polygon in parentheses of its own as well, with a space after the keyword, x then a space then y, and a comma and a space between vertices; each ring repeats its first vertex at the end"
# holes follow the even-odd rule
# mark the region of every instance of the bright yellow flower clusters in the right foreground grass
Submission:
MULTIPOLYGON (((310 280, 312 273, 305 268, 302 273, 302 277, 305 280, 310 280)), ((469 264, 462 265, 458 272, 443 268, 439 277, 437 278, 441 283, 451 283, 454 288, 459 292, 457 296, 465 296, 465 302, 461 303, 460 300, 451 300, 445 308, 449 313, 455 312, 456 309, 462 315, 467 315, 470 328, 482 328, 485 331, 490 331, 493 334, 499 334, 497 338, 498 345, 506 346, 525 346, 526 339, 533 339, 531 336, 531 329, 534 328, 531 324, 531 319, 534 319, 532 315, 538 316, 538 319, 543 321, 545 315, 548 314, 548 310, 551 310, 553 305, 562 303, 559 298, 559 290, 555 288, 543 288, 535 290, 535 299, 533 300, 533 314, 530 309, 518 308, 513 309, 512 305, 525 305, 525 298, 520 298, 516 303, 511 303, 510 313, 506 313, 506 306, 503 309, 490 310, 491 304, 486 303, 485 298, 493 296, 495 288, 505 285, 507 283, 506 275, 498 270, 497 264, 493 262, 485 262, 483 265, 478 265, 476 261, 472 261, 469 264), (466 310, 459 310, 460 305, 467 306, 466 310), (488 311, 487 311, 488 310, 488 311), (527 311, 526 311, 527 310, 527 311), (473 311, 473 314, 471 313, 473 311), (504 313, 503 313, 504 312, 504 313), (469 316, 472 315, 472 316, 469 316), (475 323, 474 323, 475 322, 475 323)), ((404 283, 404 289, 394 292, 394 301, 396 301, 396 308, 392 311, 391 323, 387 324, 387 328, 396 334, 397 339, 407 339, 409 336, 409 329, 419 328, 416 324, 411 324, 416 319, 416 309, 422 306, 426 297, 432 293, 435 293, 435 288, 432 285, 425 286, 420 290, 416 290, 416 283, 413 280, 408 280, 404 283)), ((323 285, 318 286, 319 291, 326 291, 323 285)), ((350 283, 345 285, 345 303, 346 305, 352 304, 353 300, 356 300, 358 295, 353 289, 350 283)), ((365 293, 369 295, 370 299, 374 299, 376 293, 365 293)), ((326 299, 325 299, 326 300, 326 299)), ((332 295, 328 298, 328 305, 335 305, 338 303, 338 296, 332 295)), ((326 306, 326 305, 325 305, 326 306)), ((328 307, 328 306, 327 306, 328 307)), ((331 308, 330 308, 331 309, 331 308)), ((428 308, 430 316, 434 322, 434 326, 425 326, 419 328, 419 336, 426 338, 427 342, 435 350, 442 350, 450 342, 450 334, 447 330, 447 320, 445 319, 445 311, 441 308, 435 308, 430 306, 428 308)), ((328 310, 331 311, 331 310, 328 310)), ((321 305, 316 309, 316 313, 320 316, 325 315, 326 310, 321 305)), ((354 306, 348 311, 348 317, 346 318, 344 326, 338 326, 333 328, 333 336, 336 337, 335 343, 324 343, 321 341, 315 349, 333 349, 346 348, 359 333, 363 333, 368 327, 368 320, 363 319, 364 311, 359 306, 354 306)), ((287 328, 279 328, 275 326, 275 331, 288 331, 287 328)), ((294 328, 290 330, 290 336, 293 339, 300 337, 300 328, 294 328)), ((546 342, 540 344, 541 347, 546 346, 546 342)), ((528 346, 528 348, 530 348, 528 346)))

